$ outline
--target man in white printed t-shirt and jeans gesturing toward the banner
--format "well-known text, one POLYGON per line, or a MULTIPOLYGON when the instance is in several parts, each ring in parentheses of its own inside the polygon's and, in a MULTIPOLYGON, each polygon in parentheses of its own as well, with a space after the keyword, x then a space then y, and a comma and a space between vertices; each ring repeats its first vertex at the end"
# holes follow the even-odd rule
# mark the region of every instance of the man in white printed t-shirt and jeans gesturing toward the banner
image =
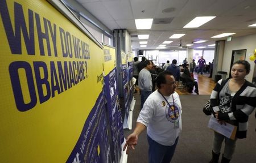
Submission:
POLYGON ((139 135, 147 128, 148 162, 171 162, 181 132, 180 98, 170 72, 161 72, 156 85, 158 89, 147 98, 123 151, 127 148, 126 154, 129 154, 130 149, 135 149, 139 135))

